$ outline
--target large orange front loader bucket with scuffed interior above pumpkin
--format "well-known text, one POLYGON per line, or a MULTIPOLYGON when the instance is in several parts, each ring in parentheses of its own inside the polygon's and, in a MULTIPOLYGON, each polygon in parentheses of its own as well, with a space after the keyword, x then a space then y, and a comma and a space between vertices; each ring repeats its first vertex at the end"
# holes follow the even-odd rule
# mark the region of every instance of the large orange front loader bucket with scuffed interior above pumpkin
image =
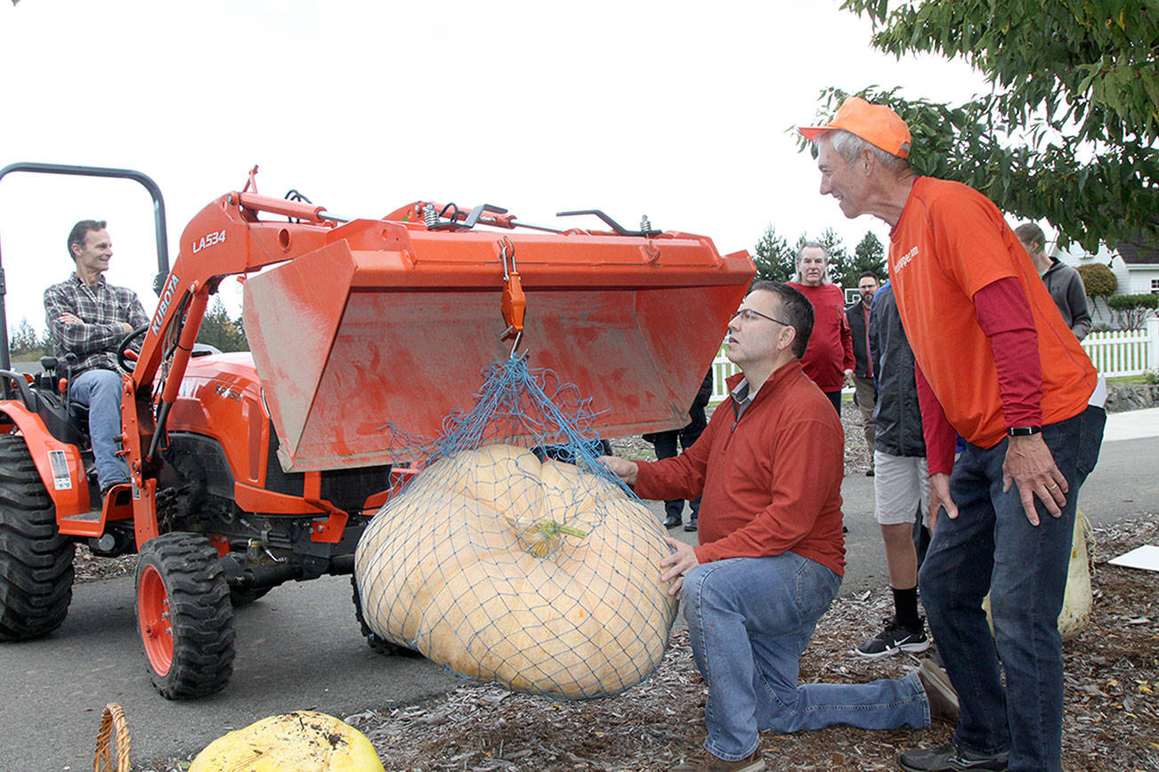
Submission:
POLYGON ((286 471, 392 463, 393 429, 439 434, 452 411, 471 410, 482 370, 512 354, 523 299, 518 351, 591 397, 600 433, 683 426, 755 273, 746 253, 673 233, 356 220, 326 241, 245 285, 286 471))

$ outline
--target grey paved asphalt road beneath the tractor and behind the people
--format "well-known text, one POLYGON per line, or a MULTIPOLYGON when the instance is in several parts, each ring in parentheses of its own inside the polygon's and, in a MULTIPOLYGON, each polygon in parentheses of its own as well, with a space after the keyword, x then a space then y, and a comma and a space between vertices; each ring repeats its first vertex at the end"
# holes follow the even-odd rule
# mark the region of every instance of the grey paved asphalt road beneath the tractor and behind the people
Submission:
MULTIPOLYGON (((1159 410, 1116 418, 1099 468, 1083 488, 1096 524, 1159 512, 1159 410), (1151 424, 1153 422, 1154 431, 1151 424)), ((845 481, 848 569, 843 593, 885 582, 873 521, 873 480, 845 481)), ((656 506, 657 514, 661 505, 656 506)), ((684 531, 675 535, 691 538, 684 531)), ((204 747, 267 715, 313 707, 343 716, 442 693, 457 679, 423 660, 380 657, 353 620, 347 578, 290 583, 236 612, 238 660, 220 694, 194 703, 158 696, 133 630, 132 580, 79 584, 68 619, 52 635, 0 646, 0 770, 92 767, 105 703, 119 703, 144 763, 204 747)))

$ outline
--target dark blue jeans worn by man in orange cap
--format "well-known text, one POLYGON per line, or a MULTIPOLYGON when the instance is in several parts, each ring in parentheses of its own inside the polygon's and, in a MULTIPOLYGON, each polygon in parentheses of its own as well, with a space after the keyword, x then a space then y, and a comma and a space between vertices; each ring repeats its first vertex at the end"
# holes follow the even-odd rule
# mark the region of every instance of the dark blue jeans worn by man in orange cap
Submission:
POLYGON ((938 519, 918 575, 930 628, 961 701, 954 741, 978 753, 1008 750, 1012 772, 1062 770, 1058 613, 1079 486, 1099 459, 1106 422, 1101 407, 1087 407, 1042 428, 1070 490, 1057 520, 1036 500, 1038 525, 1027 520, 1016 485, 1003 493, 1008 442, 990 449, 967 443, 950 475, 957 519, 938 519), (987 591, 993 635, 982 610, 987 591))

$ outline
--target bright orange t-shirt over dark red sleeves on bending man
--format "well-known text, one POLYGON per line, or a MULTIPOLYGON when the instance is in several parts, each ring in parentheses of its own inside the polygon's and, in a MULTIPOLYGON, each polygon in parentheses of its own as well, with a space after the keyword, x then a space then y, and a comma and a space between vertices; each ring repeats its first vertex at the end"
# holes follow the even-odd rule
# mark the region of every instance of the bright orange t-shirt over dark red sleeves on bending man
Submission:
POLYGON ((918 177, 890 233, 889 278, 913 356, 946 418, 967 441, 983 448, 1001 441, 1006 421, 974 294, 1007 277, 1022 285, 1034 315, 1042 422, 1072 418, 1086 409, 1095 369, 1014 231, 998 207, 972 188, 918 177))

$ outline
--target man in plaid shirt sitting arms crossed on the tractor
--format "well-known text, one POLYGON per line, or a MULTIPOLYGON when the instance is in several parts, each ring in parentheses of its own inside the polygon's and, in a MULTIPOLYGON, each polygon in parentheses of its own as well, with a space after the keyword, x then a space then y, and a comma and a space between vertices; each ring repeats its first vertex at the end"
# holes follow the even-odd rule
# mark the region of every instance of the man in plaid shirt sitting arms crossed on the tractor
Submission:
POLYGON ((104 498, 115 485, 129 483, 129 466, 117 456, 121 434, 118 344, 148 323, 137 293, 114 287, 102 275, 109 270, 112 242, 103 220, 81 220, 68 234, 73 274, 44 291, 44 314, 57 358, 71 353, 68 398, 88 407, 88 433, 96 475, 104 498))

